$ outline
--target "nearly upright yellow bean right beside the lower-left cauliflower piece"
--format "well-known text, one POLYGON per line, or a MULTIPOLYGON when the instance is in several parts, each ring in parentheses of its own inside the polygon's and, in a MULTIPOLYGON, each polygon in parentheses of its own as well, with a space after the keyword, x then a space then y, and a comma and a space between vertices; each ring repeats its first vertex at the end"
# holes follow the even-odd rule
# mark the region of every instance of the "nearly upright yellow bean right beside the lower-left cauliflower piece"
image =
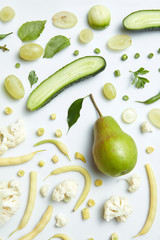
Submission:
POLYGON ((29 222, 29 219, 32 215, 34 205, 35 205, 35 200, 36 200, 36 193, 37 193, 37 172, 31 172, 30 173, 30 189, 29 189, 29 197, 28 197, 28 203, 26 207, 26 211, 24 213, 24 216, 18 226, 18 228, 13 231, 10 236, 17 232, 20 229, 23 229, 27 223, 29 222))

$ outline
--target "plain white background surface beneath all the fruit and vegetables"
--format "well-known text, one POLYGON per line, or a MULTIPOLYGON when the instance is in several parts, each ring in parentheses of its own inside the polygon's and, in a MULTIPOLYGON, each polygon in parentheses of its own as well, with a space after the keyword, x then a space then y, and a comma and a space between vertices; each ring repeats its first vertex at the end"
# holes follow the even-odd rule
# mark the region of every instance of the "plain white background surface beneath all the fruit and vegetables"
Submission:
MULTIPOLYGON (((154 127, 153 133, 142 134, 140 132, 140 124, 147 120, 147 114, 152 108, 158 108, 159 102, 152 105, 143 105, 135 103, 135 100, 146 100, 149 97, 155 95, 159 91, 160 73, 160 54, 157 53, 160 47, 159 31, 144 31, 144 32, 128 32, 122 28, 122 20, 129 13, 139 9, 157 9, 160 7, 158 0, 121 0, 121 1, 95 1, 95 0, 1 0, 0 9, 4 6, 11 6, 16 11, 15 18, 9 23, 0 22, 0 33, 8 33, 13 31, 14 34, 8 36, 6 39, 1 40, 0 44, 7 44, 10 49, 9 52, 0 52, 0 125, 8 125, 11 122, 16 121, 18 118, 22 118, 25 122, 27 138, 24 143, 17 146, 15 149, 10 149, 4 155, 18 156, 27 154, 35 149, 46 149, 44 153, 40 153, 35 158, 21 166, 1 167, 0 168, 0 181, 18 179, 22 184, 23 194, 21 197, 21 207, 17 214, 12 219, 0 228, 0 237, 5 240, 19 224, 27 204, 28 189, 29 189, 29 173, 31 170, 36 170, 38 173, 38 191, 37 199, 34 207, 32 217, 28 225, 21 231, 15 233, 10 239, 19 239, 24 234, 30 232, 34 226, 38 223, 44 211, 49 204, 53 205, 53 216, 45 230, 40 233, 35 239, 44 240, 50 238, 55 233, 63 232, 68 234, 73 240, 87 240, 94 238, 94 240, 107 240, 111 233, 117 232, 119 239, 129 240, 136 235, 142 228, 148 213, 149 208, 149 187, 148 179, 144 165, 150 163, 156 176, 158 190, 159 184, 159 130, 154 127), (78 41, 78 34, 83 28, 89 27, 87 24, 87 13, 91 6, 95 4, 103 4, 108 6, 111 11, 111 24, 102 31, 94 32, 94 39, 92 42, 86 45, 82 45, 78 41), (75 13, 78 17, 78 24, 72 29, 61 30, 53 26, 52 16, 57 11, 68 10, 75 13), (47 20, 45 29, 41 36, 35 41, 43 47, 53 36, 62 34, 71 38, 71 46, 64 49, 52 59, 39 59, 37 61, 26 62, 19 59, 18 51, 22 46, 21 40, 17 36, 18 28, 27 21, 32 20, 47 20), (127 33, 132 37, 132 46, 124 52, 112 52, 107 49, 107 41, 116 34, 127 33), (98 47, 101 49, 101 55, 107 61, 107 68, 104 72, 98 76, 88 79, 84 82, 80 82, 65 90, 53 101, 51 101, 44 108, 29 112, 26 109, 27 98, 32 91, 28 81, 28 74, 31 70, 35 70, 39 83, 45 78, 53 74, 56 70, 64 66, 65 64, 73 61, 76 57, 73 56, 75 49, 80 52, 79 57, 85 55, 95 55, 93 50, 98 47), (134 54, 139 52, 141 57, 134 59, 134 54), (154 58, 148 59, 147 55, 153 52, 154 58), (128 60, 122 62, 120 57, 123 53, 127 53, 128 60), (21 67, 15 68, 15 63, 20 62, 21 67), (138 70, 140 67, 145 67, 150 71, 148 74, 149 84, 146 84, 144 89, 137 89, 131 85, 131 78, 129 70, 138 70), (120 69, 121 76, 115 78, 113 75, 114 70, 120 69), (25 97, 22 100, 13 100, 4 89, 4 79, 10 74, 15 74, 21 79, 25 87, 25 97), (106 82, 112 82, 117 90, 117 97, 113 101, 107 101, 102 94, 102 87, 106 82), (127 183, 120 179, 131 176, 132 173, 120 177, 111 178, 102 175, 94 166, 91 148, 93 143, 93 125, 98 115, 89 98, 85 99, 83 109, 81 111, 81 118, 78 120, 75 126, 73 126, 68 135, 67 132, 67 110, 71 103, 81 97, 93 93, 96 102, 101 109, 103 115, 113 116, 122 129, 130 134, 136 141, 138 147, 138 162, 132 173, 138 173, 141 176, 141 187, 139 191, 135 193, 127 192, 127 183), (129 101, 122 100, 123 95, 130 97, 129 101), (5 116, 4 108, 10 106, 14 113, 11 116, 5 116), (122 122, 122 111, 128 107, 133 107, 137 110, 137 120, 131 125, 127 125, 122 122), (57 114, 57 119, 51 121, 49 116, 51 113, 57 114), (36 136, 36 130, 39 127, 45 128, 45 135, 41 138, 36 136), (33 144, 40 139, 53 138, 57 128, 62 129, 63 137, 61 140, 66 143, 69 149, 69 154, 72 159, 70 163, 67 158, 62 155, 56 147, 52 145, 43 145, 37 148, 33 147, 33 144), (147 146, 153 146, 155 151, 151 155, 147 155, 145 149, 147 146), (87 163, 84 164, 79 160, 74 159, 74 153, 79 151, 86 157, 87 163), (51 157, 57 154, 60 158, 59 163, 54 165, 51 161, 51 157), (43 168, 38 167, 38 161, 44 160, 46 162, 43 168), (90 193, 86 201, 75 212, 72 209, 80 196, 84 179, 78 173, 65 173, 58 176, 50 177, 47 182, 50 184, 49 196, 43 199, 40 196, 39 189, 42 186, 42 180, 46 177, 50 171, 54 168, 64 165, 77 164, 86 167, 92 177, 92 186, 90 193), (16 176, 17 171, 20 169, 25 170, 25 176, 18 178, 16 176), (53 188, 60 181, 65 179, 75 179, 79 182, 79 191, 77 199, 73 199, 70 203, 55 203, 51 201, 51 193, 53 188), (103 186, 96 188, 94 181, 97 178, 103 180, 103 186), (111 221, 107 223, 103 219, 103 204, 111 195, 127 196, 129 203, 133 208, 133 214, 126 221, 126 223, 117 223, 111 221), (87 200, 93 198, 96 201, 96 206, 90 209, 91 218, 87 221, 83 221, 81 217, 81 209, 86 207, 87 200), (55 225, 55 215, 57 213, 64 213, 69 217, 69 224, 62 229, 57 229, 55 225)), ((36 87, 34 85, 34 87, 36 87)), ((33 88, 34 88, 33 87, 33 88)), ((159 197, 159 191, 158 191, 159 197)), ((154 224, 145 236, 140 237, 145 240, 158 240, 160 238, 159 230, 159 212, 158 205, 157 215, 154 224)))

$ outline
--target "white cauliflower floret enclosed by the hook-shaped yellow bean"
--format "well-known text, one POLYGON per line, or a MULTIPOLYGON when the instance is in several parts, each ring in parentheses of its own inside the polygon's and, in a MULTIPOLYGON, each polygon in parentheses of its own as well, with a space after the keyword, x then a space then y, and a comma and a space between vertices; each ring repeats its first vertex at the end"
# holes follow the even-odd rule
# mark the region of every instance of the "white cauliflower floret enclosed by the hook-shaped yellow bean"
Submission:
POLYGON ((69 201, 71 198, 76 197, 78 189, 78 183, 74 180, 66 180, 58 184, 53 190, 52 200, 69 201))

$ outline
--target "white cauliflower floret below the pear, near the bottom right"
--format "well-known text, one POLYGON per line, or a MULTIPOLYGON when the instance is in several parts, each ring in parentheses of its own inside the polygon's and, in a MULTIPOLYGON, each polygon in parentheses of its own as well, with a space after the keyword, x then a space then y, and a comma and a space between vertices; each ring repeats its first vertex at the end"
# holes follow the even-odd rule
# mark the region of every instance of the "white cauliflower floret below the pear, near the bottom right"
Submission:
POLYGON ((112 196, 104 204, 104 219, 107 222, 114 218, 118 222, 125 222, 131 213, 132 209, 128 205, 127 198, 112 196))

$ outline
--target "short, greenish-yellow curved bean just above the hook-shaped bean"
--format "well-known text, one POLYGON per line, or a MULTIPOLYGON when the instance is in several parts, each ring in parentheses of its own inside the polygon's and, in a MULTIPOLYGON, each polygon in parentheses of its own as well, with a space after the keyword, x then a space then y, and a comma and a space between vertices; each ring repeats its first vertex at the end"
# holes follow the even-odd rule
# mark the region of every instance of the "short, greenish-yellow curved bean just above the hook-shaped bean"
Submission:
POLYGON ((58 149, 65 155, 68 157, 69 160, 71 160, 68 156, 68 149, 66 147, 66 145, 58 140, 54 140, 54 139, 46 139, 46 140, 42 140, 36 144, 34 144, 34 147, 35 146, 39 146, 41 144, 44 144, 44 143, 52 143, 54 145, 56 145, 56 147, 58 147, 58 149))

